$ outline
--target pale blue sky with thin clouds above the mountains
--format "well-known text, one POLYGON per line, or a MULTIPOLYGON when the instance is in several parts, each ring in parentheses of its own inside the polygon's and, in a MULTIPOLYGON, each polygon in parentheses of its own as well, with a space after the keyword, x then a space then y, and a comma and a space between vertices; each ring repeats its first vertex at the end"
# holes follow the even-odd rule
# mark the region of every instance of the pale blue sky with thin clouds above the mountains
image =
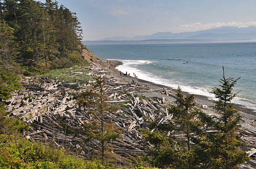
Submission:
POLYGON ((256 25, 255 0, 56 1, 76 13, 86 41, 256 25))

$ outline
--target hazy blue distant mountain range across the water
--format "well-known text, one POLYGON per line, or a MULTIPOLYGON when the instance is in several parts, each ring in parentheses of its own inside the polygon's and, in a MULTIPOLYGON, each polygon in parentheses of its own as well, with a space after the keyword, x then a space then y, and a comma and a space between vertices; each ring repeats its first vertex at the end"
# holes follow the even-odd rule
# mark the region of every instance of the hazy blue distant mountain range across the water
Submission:
POLYGON ((256 41, 256 26, 222 26, 197 32, 158 32, 132 38, 112 37, 97 41, 83 41, 84 44, 127 44, 127 43, 209 43, 209 42, 251 42, 256 41))

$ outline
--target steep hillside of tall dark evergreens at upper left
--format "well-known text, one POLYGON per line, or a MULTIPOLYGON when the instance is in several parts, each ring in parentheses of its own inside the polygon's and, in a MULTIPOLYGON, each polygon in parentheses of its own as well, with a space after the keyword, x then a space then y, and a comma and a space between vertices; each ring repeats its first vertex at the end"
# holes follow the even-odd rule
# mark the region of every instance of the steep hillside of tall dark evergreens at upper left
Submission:
POLYGON ((76 13, 56 1, 0 1, 1 68, 26 76, 86 65, 76 13))

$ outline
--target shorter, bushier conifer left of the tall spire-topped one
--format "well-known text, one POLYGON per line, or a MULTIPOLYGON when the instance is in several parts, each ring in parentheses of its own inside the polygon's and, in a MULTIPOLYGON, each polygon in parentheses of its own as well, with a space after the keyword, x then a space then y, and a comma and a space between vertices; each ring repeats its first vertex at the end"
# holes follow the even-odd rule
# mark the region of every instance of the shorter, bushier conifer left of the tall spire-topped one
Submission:
POLYGON ((169 119, 166 123, 150 122, 142 129, 143 137, 150 143, 151 163, 158 167, 193 168, 197 166, 196 144, 201 142, 202 122, 205 114, 195 107, 194 95, 185 98, 178 88, 175 104, 167 106, 169 119))

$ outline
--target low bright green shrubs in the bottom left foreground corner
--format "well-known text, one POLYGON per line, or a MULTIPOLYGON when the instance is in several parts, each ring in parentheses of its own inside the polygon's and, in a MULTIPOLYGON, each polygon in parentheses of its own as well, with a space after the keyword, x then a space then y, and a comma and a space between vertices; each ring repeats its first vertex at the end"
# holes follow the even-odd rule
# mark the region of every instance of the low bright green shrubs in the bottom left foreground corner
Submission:
MULTIPOLYGON (((0 139, 3 135, 0 135, 0 139)), ((0 145, 1 168, 109 168, 99 161, 73 157, 63 149, 47 147, 9 135, 0 145)))

